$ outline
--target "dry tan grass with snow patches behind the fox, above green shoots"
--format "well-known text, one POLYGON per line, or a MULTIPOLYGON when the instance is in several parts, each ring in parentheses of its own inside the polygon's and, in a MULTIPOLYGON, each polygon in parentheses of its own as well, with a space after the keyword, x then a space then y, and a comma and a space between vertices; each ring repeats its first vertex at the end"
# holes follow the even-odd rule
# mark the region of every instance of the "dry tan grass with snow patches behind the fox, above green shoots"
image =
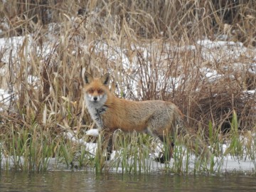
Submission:
POLYGON ((255 94, 247 92, 256 89, 255 1, 39 2, 0 6, 0 36, 13 41, 0 49, 0 83, 14 92, 8 105, 0 103, 2 139, 10 127, 34 124, 53 137, 91 128, 82 68, 111 73, 119 97, 171 100, 205 137, 209 122, 229 129, 233 110, 240 129, 255 129, 255 94), (247 50, 228 57, 222 47, 197 43, 206 38, 247 50), (202 69, 220 76, 211 81, 202 69))

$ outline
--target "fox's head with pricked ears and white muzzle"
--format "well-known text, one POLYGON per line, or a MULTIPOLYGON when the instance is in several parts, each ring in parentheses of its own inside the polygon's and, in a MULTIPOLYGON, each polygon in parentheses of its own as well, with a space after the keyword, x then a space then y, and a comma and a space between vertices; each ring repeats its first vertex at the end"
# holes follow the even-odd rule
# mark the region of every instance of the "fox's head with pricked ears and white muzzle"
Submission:
POLYGON ((84 75, 84 97, 87 106, 102 107, 109 94, 110 74, 106 73, 101 78, 93 78, 89 73, 84 75))

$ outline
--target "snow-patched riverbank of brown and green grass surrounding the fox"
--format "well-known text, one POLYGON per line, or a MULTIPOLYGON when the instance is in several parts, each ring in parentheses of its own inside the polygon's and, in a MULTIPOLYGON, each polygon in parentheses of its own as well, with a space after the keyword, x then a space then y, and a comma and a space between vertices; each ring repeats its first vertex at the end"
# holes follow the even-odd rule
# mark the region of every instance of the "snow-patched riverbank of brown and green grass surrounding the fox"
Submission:
MULTIPOLYGON (((99 172, 151 171, 145 159, 152 139, 144 134, 118 132, 119 154, 110 164, 104 151, 88 151, 85 131, 95 126, 83 101, 82 68, 111 73, 118 97, 174 102, 216 156, 255 161, 255 10, 255 1, 244 0, 3 1, 2 168, 44 171, 55 158, 68 168, 78 161, 99 172)), ((174 167, 161 168, 188 173, 191 153, 175 147, 174 167)), ((196 162, 196 173, 209 171, 196 162)))

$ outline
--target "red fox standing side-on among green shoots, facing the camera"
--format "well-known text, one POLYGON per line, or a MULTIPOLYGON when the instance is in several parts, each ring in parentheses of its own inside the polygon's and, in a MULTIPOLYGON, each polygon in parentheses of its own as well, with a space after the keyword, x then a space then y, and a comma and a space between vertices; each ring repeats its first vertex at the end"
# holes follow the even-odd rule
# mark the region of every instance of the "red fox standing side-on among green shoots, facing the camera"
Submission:
POLYGON ((183 114, 172 102, 161 100, 130 101, 114 96, 109 89, 110 74, 101 78, 93 78, 84 74, 84 99, 87 110, 96 122, 98 129, 107 137, 107 160, 112 153, 112 133, 121 129, 123 132, 142 132, 159 137, 161 142, 168 144, 165 156, 156 161, 164 163, 172 156, 175 134, 183 137, 188 147, 197 155, 204 154, 206 159, 211 156, 206 144, 184 125, 183 114))

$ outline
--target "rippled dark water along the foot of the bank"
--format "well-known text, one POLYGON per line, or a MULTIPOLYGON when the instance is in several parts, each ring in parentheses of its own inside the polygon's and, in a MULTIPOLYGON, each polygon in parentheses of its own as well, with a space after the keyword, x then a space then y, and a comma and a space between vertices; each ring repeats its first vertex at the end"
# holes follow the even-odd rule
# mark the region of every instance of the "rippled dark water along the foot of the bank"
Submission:
POLYGON ((256 191, 256 176, 0 172, 0 191, 256 191))

